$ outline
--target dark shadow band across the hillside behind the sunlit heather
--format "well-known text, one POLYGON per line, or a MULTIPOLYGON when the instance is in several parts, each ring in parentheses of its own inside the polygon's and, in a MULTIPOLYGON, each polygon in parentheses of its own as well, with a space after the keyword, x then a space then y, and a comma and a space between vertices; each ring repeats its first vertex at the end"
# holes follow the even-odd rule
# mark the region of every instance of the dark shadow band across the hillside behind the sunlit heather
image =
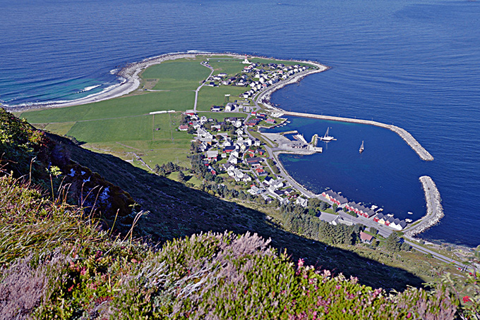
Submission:
POLYGON ((137 231, 153 242, 209 230, 251 231, 263 238, 272 238, 271 245, 281 251, 286 248, 294 261, 304 258, 307 264, 321 269, 356 276, 365 285, 403 290, 407 285, 421 286, 423 283, 421 278, 403 269, 385 266, 354 252, 288 233, 268 221, 259 211, 148 173, 116 156, 90 152, 62 137, 52 138, 64 142, 73 161, 88 166, 109 182, 119 185, 136 199, 141 209, 150 211, 140 221, 137 231))

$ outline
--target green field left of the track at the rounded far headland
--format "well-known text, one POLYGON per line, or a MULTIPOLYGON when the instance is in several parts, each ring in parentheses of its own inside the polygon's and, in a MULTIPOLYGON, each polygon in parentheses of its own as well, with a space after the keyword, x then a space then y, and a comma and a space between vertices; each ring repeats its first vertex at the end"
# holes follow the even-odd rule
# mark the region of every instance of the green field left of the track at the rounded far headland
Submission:
MULTIPOLYGON (((200 57, 199 57, 200 58, 200 57)), ((143 79, 159 79, 153 90, 195 91, 210 75, 210 69, 200 65, 202 59, 164 61, 145 70, 143 79)))

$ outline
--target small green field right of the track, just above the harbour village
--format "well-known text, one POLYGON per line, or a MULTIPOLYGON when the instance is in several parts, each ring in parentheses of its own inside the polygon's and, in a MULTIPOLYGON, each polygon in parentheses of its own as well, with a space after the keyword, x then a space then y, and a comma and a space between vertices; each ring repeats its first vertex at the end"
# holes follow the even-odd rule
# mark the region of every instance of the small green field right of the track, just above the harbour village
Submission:
POLYGON ((210 111, 212 105, 224 106, 225 94, 230 94, 227 102, 234 102, 239 99, 239 94, 246 91, 245 87, 233 87, 222 85, 220 87, 203 86, 198 92, 197 110, 210 111))

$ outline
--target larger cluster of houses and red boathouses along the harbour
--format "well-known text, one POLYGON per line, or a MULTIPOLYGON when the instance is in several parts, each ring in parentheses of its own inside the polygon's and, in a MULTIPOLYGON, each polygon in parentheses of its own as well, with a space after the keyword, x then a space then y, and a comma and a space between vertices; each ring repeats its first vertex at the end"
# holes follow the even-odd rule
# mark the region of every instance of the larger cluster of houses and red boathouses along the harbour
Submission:
MULTIPOLYGON (((394 230, 403 230, 407 227, 406 221, 400 221, 392 214, 383 214, 382 209, 376 206, 365 207, 360 203, 351 202, 332 190, 326 190, 319 195, 298 190, 288 178, 280 174, 277 167, 280 164, 276 162, 273 154, 269 154, 272 149, 251 135, 254 130, 259 132, 258 128, 261 128, 259 124, 271 120, 269 123, 273 125, 275 120, 267 113, 256 111, 248 113, 246 118, 229 117, 229 111, 243 110, 243 106, 236 103, 229 103, 225 107, 212 107, 212 110, 218 112, 226 111, 225 109, 227 112, 223 112, 226 116, 224 121, 201 116, 201 113, 193 110, 186 111, 184 124, 178 128, 193 134, 192 143, 201 154, 203 165, 212 176, 222 175, 225 179, 234 181, 236 185, 241 186, 241 190, 246 190, 254 197, 263 198, 267 204, 276 199, 280 205, 294 204, 308 209, 308 199, 320 199, 331 206, 332 213, 321 211, 318 218, 333 225, 352 226, 361 223, 378 228, 382 235, 389 235, 394 230), (384 228, 385 226, 388 228, 384 228)), ((292 142, 283 135, 278 136, 292 144, 308 145, 301 135, 295 136, 299 140, 297 142, 292 142)), ((285 143, 280 146, 285 146, 285 143)), ((286 147, 289 152, 295 152, 295 149, 289 148, 291 146, 286 147)), ((365 233, 362 240, 371 242, 373 237, 365 233)))

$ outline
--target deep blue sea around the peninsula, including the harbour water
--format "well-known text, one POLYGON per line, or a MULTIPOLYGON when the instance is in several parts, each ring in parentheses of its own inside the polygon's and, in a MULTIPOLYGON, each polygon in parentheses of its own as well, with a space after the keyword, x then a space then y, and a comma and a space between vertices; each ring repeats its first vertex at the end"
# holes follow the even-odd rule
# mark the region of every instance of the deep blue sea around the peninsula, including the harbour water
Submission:
MULTIPOLYGON (((465 0, 0 0, 0 101, 67 101, 106 90, 126 63, 198 50, 308 59, 331 69, 272 94, 289 111, 393 123, 389 130, 289 118, 330 135, 323 154, 284 155, 314 192, 332 189, 402 219, 445 210, 426 240, 480 245, 480 2, 465 0), (364 141, 365 151, 359 154, 364 141)), ((278 129, 280 130, 280 129, 278 129)))

